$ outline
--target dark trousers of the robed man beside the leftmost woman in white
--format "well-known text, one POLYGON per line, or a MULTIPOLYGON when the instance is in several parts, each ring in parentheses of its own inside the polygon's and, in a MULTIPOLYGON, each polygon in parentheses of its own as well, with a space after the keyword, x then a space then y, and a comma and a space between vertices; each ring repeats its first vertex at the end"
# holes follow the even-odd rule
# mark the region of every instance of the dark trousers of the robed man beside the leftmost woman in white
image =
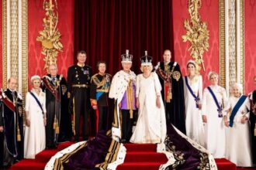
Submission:
MULTIPOLYGON (((47 126, 46 126, 46 146, 52 148, 57 144, 57 134, 54 130, 55 115, 57 121, 60 120, 61 105, 58 101, 47 101, 47 126)), ((60 126, 60 124, 58 124, 60 126)))

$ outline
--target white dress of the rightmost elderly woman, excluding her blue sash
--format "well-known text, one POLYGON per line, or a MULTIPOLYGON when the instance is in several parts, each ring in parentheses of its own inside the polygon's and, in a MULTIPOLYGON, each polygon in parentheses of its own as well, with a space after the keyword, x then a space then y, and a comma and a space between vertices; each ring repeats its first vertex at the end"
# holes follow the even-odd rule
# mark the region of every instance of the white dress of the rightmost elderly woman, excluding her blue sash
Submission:
MULTIPOLYGON (((223 110, 223 115, 227 115, 228 120, 230 114, 227 114, 229 110, 233 110, 237 104, 239 98, 230 97, 227 107, 223 110)), ((234 117, 233 127, 227 129, 227 151, 226 157, 230 162, 234 162, 237 166, 249 167, 252 165, 251 155, 251 139, 249 121, 245 124, 241 123, 243 112, 246 117, 250 116, 250 100, 247 98, 244 103, 240 106, 237 114, 234 117)))

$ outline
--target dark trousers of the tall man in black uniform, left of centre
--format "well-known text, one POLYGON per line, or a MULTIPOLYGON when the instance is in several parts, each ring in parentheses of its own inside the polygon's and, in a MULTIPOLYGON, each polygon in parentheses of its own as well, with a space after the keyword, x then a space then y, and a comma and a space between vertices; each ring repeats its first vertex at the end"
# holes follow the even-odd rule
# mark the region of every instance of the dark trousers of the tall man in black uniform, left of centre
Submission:
POLYGON ((88 114, 89 114, 89 90, 85 87, 73 88, 73 107, 74 107, 74 141, 79 140, 80 136, 80 117, 83 117, 83 140, 88 140, 88 114))

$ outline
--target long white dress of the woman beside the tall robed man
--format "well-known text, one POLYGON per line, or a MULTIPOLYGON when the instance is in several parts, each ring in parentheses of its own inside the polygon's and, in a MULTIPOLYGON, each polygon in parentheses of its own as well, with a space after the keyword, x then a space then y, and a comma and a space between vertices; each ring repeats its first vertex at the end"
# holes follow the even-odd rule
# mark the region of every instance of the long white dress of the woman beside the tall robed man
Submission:
MULTIPOLYGON (((189 87, 191 87, 192 92, 195 97, 199 97, 199 104, 202 104, 202 76, 195 75, 192 80, 187 76, 189 87)), ((185 99, 185 130, 186 134, 193 141, 204 146, 204 128, 202 124, 202 113, 199 108, 196 107, 195 98, 189 91, 185 83, 185 77, 183 77, 184 82, 184 99, 185 99)))

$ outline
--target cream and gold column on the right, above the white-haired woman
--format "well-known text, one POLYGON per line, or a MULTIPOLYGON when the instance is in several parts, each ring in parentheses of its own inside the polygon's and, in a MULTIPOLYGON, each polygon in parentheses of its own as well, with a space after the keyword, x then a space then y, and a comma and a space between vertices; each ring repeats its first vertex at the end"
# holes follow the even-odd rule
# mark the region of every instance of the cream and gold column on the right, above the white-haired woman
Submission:
POLYGON ((244 0, 220 0, 220 85, 244 85, 244 0))

